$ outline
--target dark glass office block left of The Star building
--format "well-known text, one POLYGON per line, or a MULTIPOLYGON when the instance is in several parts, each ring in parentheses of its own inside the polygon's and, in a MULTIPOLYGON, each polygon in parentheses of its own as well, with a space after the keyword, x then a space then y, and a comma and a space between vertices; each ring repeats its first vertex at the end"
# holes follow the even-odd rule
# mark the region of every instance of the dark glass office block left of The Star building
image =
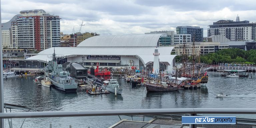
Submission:
POLYGON ((196 26, 178 26, 176 27, 177 34, 191 34, 191 41, 203 41, 203 28, 196 26))

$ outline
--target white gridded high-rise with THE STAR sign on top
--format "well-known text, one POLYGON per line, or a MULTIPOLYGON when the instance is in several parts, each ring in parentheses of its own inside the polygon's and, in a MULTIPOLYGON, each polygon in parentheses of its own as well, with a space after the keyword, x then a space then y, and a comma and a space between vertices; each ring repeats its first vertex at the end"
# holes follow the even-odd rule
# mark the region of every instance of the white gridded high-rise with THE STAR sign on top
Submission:
POLYGON ((231 41, 238 40, 255 40, 256 39, 256 23, 249 23, 249 21, 240 21, 239 17, 236 21, 220 20, 213 22, 207 29, 207 36, 224 35, 231 41))

